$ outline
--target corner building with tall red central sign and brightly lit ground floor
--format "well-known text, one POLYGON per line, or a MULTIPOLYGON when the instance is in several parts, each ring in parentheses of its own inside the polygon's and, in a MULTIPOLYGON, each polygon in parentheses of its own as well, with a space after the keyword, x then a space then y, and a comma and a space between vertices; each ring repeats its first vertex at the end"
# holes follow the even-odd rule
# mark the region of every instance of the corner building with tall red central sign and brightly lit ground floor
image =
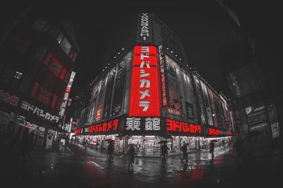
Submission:
POLYGON ((112 139, 116 153, 134 143, 144 155, 158 155, 162 140, 172 153, 184 143, 200 149, 212 138, 228 141, 226 98, 190 71, 178 35, 151 13, 139 14, 132 32, 91 83, 79 141, 105 149, 112 139))

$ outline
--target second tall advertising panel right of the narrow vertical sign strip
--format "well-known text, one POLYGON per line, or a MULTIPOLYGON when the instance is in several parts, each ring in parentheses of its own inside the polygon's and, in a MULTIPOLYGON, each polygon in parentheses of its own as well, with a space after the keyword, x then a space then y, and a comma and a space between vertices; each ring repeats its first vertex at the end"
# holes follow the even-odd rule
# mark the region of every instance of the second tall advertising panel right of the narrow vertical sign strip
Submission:
POLYGON ((192 81, 190 76, 187 75, 186 71, 181 69, 181 78, 183 83, 184 98, 185 98, 185 109, 187 114, 187 119, 195 119, 195 95, 193 93, 192 81))

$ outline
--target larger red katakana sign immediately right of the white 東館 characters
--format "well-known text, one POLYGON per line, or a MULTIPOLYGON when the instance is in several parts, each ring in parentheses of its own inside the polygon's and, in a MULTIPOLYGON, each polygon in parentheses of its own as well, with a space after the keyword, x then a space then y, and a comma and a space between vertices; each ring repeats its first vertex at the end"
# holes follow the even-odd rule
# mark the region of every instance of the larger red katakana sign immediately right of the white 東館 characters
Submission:
POLYGON ((166 119, 166 130, 182 133, 202 134, 202 127, 197 124, 188 124, 173 119, 166 119))

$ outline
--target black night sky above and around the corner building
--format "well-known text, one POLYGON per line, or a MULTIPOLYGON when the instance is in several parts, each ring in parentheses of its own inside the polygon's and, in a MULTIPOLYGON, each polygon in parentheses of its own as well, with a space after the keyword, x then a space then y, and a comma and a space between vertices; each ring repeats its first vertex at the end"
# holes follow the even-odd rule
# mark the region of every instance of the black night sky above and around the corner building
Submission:
MULTIPOLYGON (((103 53, 115 41, 115 32, 127 29, 127 22, 139 12, 155 13, 183 40, 187 59, 195 64, 200 74, 217 91, 228 93, 219 61, 219 40, 232 39, 233 33, 225 14, 213 0, 176 1, 55 1, 56 6, 47 3, 35 4, 45 7, 74 23, 76 40, 81 48, 78 62, 74 67, 76 78, 71 95, 76 95, 92 78, 96 77, 103 65, 103 53)), ((227 1, 237 14, 246 31, 264 41, 273 56, 282 63, 282 11, 279 2, 268 1, 227 1)), ((6 6, 6 11, 19 8, 6 6), (8 8, 11 8, 9 10, 8 8)), ((2 12, 0 16, 4 15, 2 12)), ((1 18, 2 20, 3 18, 1 18)))

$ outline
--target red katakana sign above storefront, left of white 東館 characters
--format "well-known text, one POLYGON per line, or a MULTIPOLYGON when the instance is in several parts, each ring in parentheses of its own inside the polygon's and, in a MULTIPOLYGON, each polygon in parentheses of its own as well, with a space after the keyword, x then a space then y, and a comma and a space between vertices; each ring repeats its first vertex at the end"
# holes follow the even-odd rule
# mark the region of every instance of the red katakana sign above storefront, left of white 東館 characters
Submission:
POLYGON ((109 122, 103 122, 99 124, 93 124, 89 127, 89 133, 108 133, 110 131, 117 131, 119 119, 113 119, 109 122))

